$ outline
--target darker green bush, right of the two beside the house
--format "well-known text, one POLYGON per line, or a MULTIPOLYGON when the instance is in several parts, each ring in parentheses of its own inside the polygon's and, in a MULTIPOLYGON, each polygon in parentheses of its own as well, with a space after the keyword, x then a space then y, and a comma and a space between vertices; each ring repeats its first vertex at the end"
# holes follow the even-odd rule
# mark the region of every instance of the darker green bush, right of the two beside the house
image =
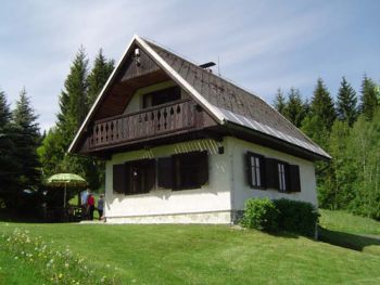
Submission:
POLYGON ((274 204, 279 211, 279 230, 314 236, 319 215, 313 204, 284 198, 275 199, 274 204))

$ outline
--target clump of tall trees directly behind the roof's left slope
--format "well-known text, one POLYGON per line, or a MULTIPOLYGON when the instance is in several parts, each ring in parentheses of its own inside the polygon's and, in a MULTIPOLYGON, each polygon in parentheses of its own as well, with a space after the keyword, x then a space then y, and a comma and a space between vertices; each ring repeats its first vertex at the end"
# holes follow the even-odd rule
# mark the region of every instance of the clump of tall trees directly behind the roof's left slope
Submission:
POLYGON ((66 151, 113 66, 114 62, 107 61, 100 50, 88 74, 85 50, 79 49, 61 92, 56 126, 49 131, 39 148, 45 176, 74 172, 83 176, 91 189, 99 189, 104 177, 104 164, 91 157, 66 154, 66 151))

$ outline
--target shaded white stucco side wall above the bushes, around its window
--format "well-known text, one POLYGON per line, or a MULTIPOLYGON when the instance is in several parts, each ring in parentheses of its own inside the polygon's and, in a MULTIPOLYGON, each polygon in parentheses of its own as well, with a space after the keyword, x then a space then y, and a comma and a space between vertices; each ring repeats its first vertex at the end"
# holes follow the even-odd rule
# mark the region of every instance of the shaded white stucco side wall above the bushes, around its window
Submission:
POLYGON ((244 202, 251 197, 268 197, 271 199, 288 198, 309 202, 317 206, 314 163, 231 137, 225 138, 225 142, 228 145, 228 155, 233 157, 233 160, 230 159, 231 164, 233 164, 231 165, 231 169, 233 170, 233 186, 231 191, 231 204, 233 210, 242 210, 244 208, 244 202), (301 192, 287 194, 270 189, 252 189, 246 182, 246 173, 244 170, 244 155, 248 151, 264 155, 266 157, 277 158, 292 165, 299 165, 301 192))

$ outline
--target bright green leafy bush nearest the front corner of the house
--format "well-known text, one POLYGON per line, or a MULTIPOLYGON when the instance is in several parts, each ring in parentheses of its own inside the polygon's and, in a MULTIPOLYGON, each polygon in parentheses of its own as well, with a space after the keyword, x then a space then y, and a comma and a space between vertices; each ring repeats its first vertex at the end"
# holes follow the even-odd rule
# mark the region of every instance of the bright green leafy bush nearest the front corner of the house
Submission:
POLYGON ((245 202, 241 224, 250 229, 268 232, 277 231, 278 213, 273 200, 268 198, 251 198, 245 202))

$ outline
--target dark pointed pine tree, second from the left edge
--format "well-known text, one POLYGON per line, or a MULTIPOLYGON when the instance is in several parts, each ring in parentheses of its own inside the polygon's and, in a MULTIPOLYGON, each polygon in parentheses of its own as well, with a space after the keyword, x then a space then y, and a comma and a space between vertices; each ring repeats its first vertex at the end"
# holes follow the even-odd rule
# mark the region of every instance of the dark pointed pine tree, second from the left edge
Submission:
POLYGON ((30 107, 30 101, 25 89, 20 93, 16 107, 13 111, 13 124, 15 129, 16 161, 21 166, 17 176, 20 190, 35 189, 40 183, 40 164, 37 155, 39 146, 38 116, 30 107))

